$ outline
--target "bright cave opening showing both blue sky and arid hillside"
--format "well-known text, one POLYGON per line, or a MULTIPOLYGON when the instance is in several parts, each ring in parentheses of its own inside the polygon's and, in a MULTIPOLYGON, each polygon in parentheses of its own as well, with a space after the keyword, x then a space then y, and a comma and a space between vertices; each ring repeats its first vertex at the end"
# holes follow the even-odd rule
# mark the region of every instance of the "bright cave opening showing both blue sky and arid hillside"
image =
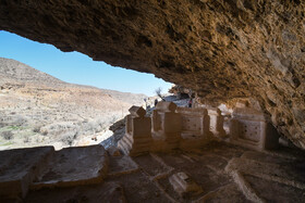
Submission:
POLYGON ((0 150, 100 143, 132 105, 171 87, 7 31, 0 43, 0 150))

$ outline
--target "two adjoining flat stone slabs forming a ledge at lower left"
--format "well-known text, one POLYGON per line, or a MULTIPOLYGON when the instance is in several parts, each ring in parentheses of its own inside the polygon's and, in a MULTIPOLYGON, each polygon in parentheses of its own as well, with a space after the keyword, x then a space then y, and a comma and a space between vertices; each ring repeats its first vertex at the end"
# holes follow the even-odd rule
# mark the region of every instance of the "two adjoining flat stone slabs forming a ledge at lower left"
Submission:
POLYGON ((100 183, 109 165, 100 144, 7 150, 0 152, 0 202, 23 199, 30 190, 100 183))

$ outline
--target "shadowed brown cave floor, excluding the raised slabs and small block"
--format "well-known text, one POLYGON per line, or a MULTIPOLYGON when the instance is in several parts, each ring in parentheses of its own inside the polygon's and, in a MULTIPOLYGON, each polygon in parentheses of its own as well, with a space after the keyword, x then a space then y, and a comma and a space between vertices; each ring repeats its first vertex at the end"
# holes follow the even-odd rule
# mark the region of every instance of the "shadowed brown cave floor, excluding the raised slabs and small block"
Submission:
POLYGON ((24 202, 305 202, 305 153, 257 152, 211 142, 190 152, 109 158, 102 183, 29 191, 24 202), (199 193, 180 195, 169 177, 183 172, 199 193))

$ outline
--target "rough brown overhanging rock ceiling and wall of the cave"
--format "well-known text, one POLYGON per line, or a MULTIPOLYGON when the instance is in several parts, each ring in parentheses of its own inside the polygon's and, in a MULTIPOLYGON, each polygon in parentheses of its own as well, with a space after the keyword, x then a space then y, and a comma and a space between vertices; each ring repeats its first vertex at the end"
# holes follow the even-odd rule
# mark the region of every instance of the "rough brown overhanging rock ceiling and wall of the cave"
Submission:
POLYGON ((305 3, 300 0, 11 1, 0 29, 198 92, 252 97, 305 149, 305 3))

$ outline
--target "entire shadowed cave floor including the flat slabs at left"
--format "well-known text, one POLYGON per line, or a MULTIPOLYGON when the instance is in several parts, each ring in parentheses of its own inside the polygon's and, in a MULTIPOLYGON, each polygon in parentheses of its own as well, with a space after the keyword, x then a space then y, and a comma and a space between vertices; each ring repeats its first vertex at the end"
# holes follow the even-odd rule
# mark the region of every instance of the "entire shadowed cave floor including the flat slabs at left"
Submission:
POLYGON ((304 152, 209 142, 195 152, 100 145, 0 153, 0 202, 304 202, 304 152))

